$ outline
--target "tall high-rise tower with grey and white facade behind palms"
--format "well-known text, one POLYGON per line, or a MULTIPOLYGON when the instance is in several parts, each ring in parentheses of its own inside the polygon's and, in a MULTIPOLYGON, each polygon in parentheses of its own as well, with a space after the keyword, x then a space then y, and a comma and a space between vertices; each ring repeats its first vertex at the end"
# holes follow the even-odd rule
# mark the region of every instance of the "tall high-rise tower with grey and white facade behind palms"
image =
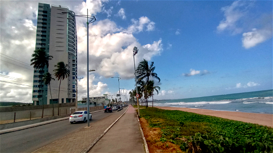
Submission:
POLYGON ((37 32, 35 49, 44 49, 48 55, 49 67, 34 69, 33 76, 33 105, 48 105, 76 102, 77 89, 77 31, 75 13, 64 6, 38 4, 37 32), (69 12, 67 14, 62 11, 69 12), (67 19, 68 17, 73 19, 67 19), (59 81, 55 78, 54 69, 58 62, 68 64, 70 75, 61 81, 58 100, 59 81), (50 72, 55 81, 51 81, 51 94, 49 86, 43 83, 43 74, 50 72))

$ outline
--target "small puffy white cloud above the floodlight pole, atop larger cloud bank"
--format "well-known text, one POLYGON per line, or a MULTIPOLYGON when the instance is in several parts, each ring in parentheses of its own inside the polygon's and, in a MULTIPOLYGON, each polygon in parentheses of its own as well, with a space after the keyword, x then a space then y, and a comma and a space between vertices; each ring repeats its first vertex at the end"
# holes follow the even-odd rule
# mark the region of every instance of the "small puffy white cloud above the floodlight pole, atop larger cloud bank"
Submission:
POLYGON ((132 19, 132 25, 124 30, 126 33, 139 33, 144 31, 153 31, 155 29, 155 22, 151 21, 148 17, 142 16, 138 20, 132 19))

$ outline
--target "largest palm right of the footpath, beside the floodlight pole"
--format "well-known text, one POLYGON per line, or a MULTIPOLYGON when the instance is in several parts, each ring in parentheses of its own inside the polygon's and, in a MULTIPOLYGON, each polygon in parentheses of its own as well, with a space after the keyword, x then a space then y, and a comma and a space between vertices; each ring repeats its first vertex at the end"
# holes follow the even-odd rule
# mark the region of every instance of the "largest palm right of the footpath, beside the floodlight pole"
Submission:
POLYGON ((148 61, 146 61, 145 59, 143 59, 143 61, 140 61, 138 64, 138 67, 136 69, 136 73, 137 73, 137 82, 140 81, 144 81, 146 80, 146 90, 145 90, 145 94, 146 95, 146 108, 148 108, 148 93, 147 93, 147 84, 149 83, 149 78, 155 78, 158 80, 158 82, 160 82, 160 78, 157 77, 157 73, 154 72, 155 70, 155 66, 154 66, 154 62, 151 63, 151 65, 149 66, 148 61))

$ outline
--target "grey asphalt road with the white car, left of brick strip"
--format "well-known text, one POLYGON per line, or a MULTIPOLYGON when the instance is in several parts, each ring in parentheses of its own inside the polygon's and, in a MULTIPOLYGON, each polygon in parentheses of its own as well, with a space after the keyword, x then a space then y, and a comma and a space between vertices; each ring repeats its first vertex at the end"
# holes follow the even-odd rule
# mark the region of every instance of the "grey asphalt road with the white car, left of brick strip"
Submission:
MULTIPOLYGON (((116 113, 114 111, 113 113, 116 113)), ((104 111, 92 113, 92 122, 99 121, 113 113, 104 111)), ((0 152, 32 152, 40 147, 76 132, 86 123, 77 122, 71 124, 69 120, 58 121, 30 129, 0 135, 0 152)))

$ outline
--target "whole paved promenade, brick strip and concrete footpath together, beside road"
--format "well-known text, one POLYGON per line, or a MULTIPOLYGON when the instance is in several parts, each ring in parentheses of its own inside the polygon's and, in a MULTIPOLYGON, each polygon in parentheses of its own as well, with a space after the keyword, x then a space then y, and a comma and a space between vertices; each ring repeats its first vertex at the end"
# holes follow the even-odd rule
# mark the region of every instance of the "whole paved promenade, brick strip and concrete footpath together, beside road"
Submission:
MULTIPOLYGON (((88 151, 91 144, 100 137, 104 131, 124 112, 115 112, 107 118, 100 121, 91 122, 89 128, 85 127, 71 135, 61 138, 51 144, 48 144, 34 152, 85 152, 88 151)), ((127 112, 111 127, 111 129, 101 138, 110 140, 104 143, 98 141, 95 146, 106 150, 95 150, 95 152, 113 152, 113 145, 116 146, 114 152, 145 152, 140 135, 137 117, 135 110, 129 106, 127 112), (114 139, 108 139, 108 134, 118 134, 114 139), (130 142, 129 142, 130 141, 130 142), (119 142, 119 144, 116 144, 119 142), (122 150, 120 148, 122 147, 122 150), (123 149, 124 148, 124 149, 123 149)), ((94 146, 94 147, 95 147, 94 146)), ((92 150, 93 148, 91 148, 92 150)))

